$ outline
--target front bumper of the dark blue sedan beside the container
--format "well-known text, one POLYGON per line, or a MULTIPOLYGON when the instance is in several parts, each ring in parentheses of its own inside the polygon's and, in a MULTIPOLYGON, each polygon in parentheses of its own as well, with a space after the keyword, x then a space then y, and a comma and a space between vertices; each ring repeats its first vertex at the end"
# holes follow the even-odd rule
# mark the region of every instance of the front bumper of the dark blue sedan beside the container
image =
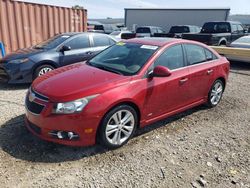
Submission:
POLYGON ((0 82, 9 84, 31 83, 33 78, 33 65, 26 63, 0 63, 0 82))

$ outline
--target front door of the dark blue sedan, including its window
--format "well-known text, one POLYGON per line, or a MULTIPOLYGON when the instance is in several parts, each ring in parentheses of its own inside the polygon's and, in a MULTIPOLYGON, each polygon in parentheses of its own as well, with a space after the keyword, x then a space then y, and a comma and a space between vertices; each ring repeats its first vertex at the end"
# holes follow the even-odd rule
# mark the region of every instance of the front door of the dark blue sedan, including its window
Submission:
POLYGON ((67 41, 65 46, 71 47, 71 50, 60 52, 60 65, 65 66, 72 63, 85 61, 89 58, 87 52, 90 51, 90 41, 88 35, 80 35, 67 41))

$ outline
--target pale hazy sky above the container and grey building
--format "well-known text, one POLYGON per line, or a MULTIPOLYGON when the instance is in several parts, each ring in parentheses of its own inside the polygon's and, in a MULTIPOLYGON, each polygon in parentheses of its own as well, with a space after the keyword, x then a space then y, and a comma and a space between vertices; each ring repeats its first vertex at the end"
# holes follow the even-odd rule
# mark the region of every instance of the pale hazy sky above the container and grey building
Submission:
POLYGON ((250 14, 250 0, 19 0, 72 7, 83 6, 88 18, 123 18, 124 8, 231 8, 231 14, 250 14))

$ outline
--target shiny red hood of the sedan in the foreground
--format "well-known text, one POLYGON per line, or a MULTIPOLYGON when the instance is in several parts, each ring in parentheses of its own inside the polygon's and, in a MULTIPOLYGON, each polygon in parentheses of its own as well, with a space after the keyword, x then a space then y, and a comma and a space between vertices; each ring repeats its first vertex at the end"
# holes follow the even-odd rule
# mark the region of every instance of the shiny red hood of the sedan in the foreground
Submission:
POLYGON ((101 94, 128 83, 130 79, 131 77, 101 70, 85 63, 77 63, 38 77, 32 88, 52 102, 67 102, 101 94))

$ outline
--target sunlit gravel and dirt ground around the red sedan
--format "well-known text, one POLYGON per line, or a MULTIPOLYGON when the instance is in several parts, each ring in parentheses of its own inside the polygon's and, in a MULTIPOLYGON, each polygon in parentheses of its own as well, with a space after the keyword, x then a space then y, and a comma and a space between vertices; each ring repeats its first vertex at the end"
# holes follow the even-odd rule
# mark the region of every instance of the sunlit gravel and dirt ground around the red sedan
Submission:
POLYGON ((223 100, 140 130, 124 147, 48 143, 24 127, 28 86, 0 86, 1 187, 250 187, 250 65, 223 100))

